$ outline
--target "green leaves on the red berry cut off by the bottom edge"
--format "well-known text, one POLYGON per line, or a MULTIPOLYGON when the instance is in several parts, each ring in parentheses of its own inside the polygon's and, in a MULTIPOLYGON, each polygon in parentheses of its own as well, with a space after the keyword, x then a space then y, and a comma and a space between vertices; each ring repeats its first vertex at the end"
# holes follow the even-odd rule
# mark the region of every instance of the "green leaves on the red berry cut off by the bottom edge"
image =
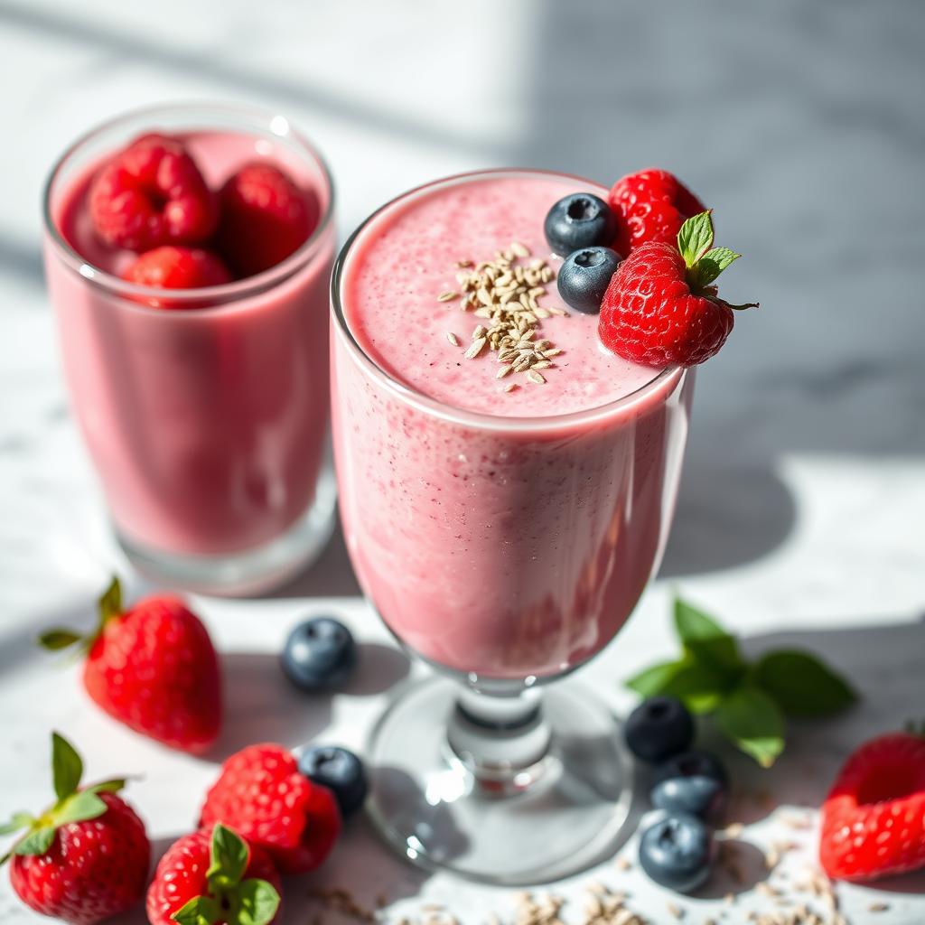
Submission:
POLYGON ((170 918, 179 925, 268 925, 277 914, 279 894, 272 883, 257 878, 242 880, 251 852, 240 835, 218 824, 212 831, 209 892, 194 896, 170 918))

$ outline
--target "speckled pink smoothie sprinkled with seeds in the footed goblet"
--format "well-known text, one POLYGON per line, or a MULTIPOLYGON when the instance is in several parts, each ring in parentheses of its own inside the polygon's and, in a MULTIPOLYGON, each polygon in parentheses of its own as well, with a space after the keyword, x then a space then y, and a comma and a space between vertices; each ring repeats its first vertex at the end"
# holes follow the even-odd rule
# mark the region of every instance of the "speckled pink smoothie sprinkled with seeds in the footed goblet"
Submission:
MULTIPOLYGON (((392 631, 457 672, 549 677, 596 654, 671 520, 691 376, 626 363, 599 345, 597 316, 569 311, 536 335, 562 350, 546 383, 517 376, 504 392, 493 355, 462 357, 478 319, 436 301, 458 289, 457 261, 512 241, 558 269, 543 219, 575 191, 606 197, 539 173, 425 188, 364 226, 339 277, 334 434, 351 557, 392 631)), ((547 289, 541 305, 567 308, 547 289)))

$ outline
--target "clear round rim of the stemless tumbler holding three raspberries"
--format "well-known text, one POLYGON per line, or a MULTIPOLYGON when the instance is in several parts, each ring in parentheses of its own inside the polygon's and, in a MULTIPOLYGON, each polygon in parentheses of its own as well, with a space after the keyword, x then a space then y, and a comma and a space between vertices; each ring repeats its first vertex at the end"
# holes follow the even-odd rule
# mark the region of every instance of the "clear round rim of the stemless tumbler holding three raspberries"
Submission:
MULTIPOLYGON (((55 190, 56 180, 60 178, 61 172, 68 163, 93 140, 99 138, 108 131, 119 128, 121 125, 128 123, 139 117, 183 115, 194 113, 213 113, 218 116, 224 115, 229 118, 238 117, 241 120, 252 119, 265 123, 266 130, 280 139, 290 139, 296 142, 300 149, 300 154, 306 155, 315 167, 317 167, 320 178, 327 191, 327 207, 318 219, 318 224, 311 235, 302 243, 298 250, 290 255, 276 266, 261 273, 254 274, 252 277, 244 279, 235 279, 229 283, 223 283, 220 286, 202 286, 198 289, 176 289, 169 290, 169 301, 176 302, 177 308, 181 308, 184 303, 215 301, 215 304, 196 305, 195 313, 202 316, 205 313, 215 313, 228 311, 237 302, 246 299, 249 296, 257 295, 266 290, 272 289, 278 283, 297 273, 302 266, 311 262, 315 253, 319 249, 321 241, 325 239, 327 231, 331 228, 334 216, 336 190, 334 179, 331 176, 330 168, 324 156, 318 151, 312 142, 302 135, 302 133, 293 128, 288 117, 274 112, 271 109, 265 109, 261 106, 236 105, 228 103, 209 103, 203 102, 182 102, 182 103, 164 103, 148 106, 140 106, 135 109, 129 109, 117 116, 106 119, 94 126, 92 129, 80 134, 77 139, 71 142, 67 148, 60 154, 45 179, 42 192, 42 218, 43 227, 47 240, 49 240, 54 249, 56 256, 68 266, 74 273, 83 277, 91 285, 104 289, 114 295, 122 296, 127 300, 127 306, 142 312, 163 313, 162 308, 156 308, 152 305, 145 304, 141 300, 165 300, 165 290, 155 286, 140 286, 137 283, 129 283, 127 280, 117 277, 107 272, 102 267, 92 264, 84 259, 68 241, 65 240, 57 228, 54 216, 52 215, 52 193, 55 190), (281 120, 281 123, 277 122, 281 120), (277 122, 277 129, 274 129, 274 122, 277 122)), ((188 314, 183 312, 171 312, 176 317, 178 314, 188 314)))

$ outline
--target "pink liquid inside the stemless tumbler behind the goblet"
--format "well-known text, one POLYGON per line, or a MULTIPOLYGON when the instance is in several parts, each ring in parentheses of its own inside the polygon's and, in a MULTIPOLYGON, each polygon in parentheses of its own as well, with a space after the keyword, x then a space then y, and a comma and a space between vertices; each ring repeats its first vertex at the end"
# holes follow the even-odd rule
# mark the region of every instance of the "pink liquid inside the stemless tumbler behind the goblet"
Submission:
MULTIPOLYGON (((213 188, 264 158, 327 207, 317 170, 282 144, 215 131, 183 140, 213 188)), ((52 218, 86 262, 118 275, 131 255, 96 240, 87 213, 98 164, 68 181, 52 218)), ((333 247, 328 225, 304 265, 270 288, 212 305, 203 290, 203 307, 167 311, 95 285, 45 241, 72 404, 130 541, 236 552, 283 533, 309 507, 327 438, 333 247)))

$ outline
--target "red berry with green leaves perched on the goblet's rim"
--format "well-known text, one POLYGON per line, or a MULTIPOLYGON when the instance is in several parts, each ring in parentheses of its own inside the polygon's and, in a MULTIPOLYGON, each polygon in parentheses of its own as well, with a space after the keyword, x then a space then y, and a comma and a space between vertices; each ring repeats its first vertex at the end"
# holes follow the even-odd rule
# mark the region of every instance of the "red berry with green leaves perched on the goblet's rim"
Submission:
POLYGON ((601 303, 604 346, 633 363, 693 366, 720 350, 733 329, 733 309, 712 285, 740 254, 713 247, 709 212, 688 218, 676 244, 635 248, 611 277, 601 303))

